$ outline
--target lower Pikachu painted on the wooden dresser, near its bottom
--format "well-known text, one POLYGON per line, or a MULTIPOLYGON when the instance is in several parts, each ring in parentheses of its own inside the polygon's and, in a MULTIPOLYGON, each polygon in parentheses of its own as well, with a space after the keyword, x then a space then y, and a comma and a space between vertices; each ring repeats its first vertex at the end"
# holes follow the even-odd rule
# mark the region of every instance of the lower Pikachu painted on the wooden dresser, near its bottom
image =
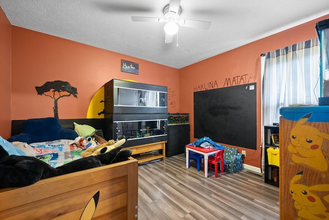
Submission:
POLYGON ((324 220, 329 219, 329 210, 325 204, 329 204, 329 184, 307 186, 297 184, 302 178, 303 171, 297 173, 290 180, 289 196, 293 198, 295 209, 297 210, 297 220, 324 220), (327 192, 320 197, 318 193, 327 192), (324 203, 323 203, 324 202, 324 203))

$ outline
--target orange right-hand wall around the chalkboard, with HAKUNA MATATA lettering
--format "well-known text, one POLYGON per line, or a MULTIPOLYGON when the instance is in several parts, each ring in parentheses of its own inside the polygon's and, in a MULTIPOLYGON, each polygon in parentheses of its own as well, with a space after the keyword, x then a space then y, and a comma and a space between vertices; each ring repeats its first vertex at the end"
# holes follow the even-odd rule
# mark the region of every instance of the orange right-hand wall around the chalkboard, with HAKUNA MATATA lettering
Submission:
MULTIPOLYGON (((261 53, 276 50, 288 45, 317 38, 315 26, 320 17, 311 22, 290 28, 267 38, 230 50, 218 56, 179 69, 179 111, 190 113, 191 141, 194 141, 193 92, 194 88, 209 82, 216 82, 218 88, 226 87, 225 79, 246 75, 249 83, 257 83, 257 150, 236 147, 246 151, 244 163, 261 168, 261 53)), ((234 36, 233 36, 234 37, 234 36)), ((241 77, 239 77, 240 79, 241 77)), ((246 82, 248 83, 248 82, 246 82)), ((241 84, 246 84, 242 82, 241 84)), ((205 90, 205 89, 204 89, 205 90)), ((228 144, 226 144, 228 145, 228 144)))

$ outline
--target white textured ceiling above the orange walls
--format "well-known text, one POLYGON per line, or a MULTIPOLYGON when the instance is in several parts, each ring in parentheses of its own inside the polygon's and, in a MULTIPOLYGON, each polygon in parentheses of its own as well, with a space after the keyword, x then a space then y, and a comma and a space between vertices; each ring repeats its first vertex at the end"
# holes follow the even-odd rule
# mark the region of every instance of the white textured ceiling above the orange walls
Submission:
MULTIPOLYGON (((328 0, 181 0, 182 19, 211 22, 208 30, 179 27, 178 46, 165 43, 163 23, 131 16, 163 17, 169 0, 0 0, 18 27, 182 68, 329 14, 328 0)), ((315 31, 315 30, 314 30, 315 31)))

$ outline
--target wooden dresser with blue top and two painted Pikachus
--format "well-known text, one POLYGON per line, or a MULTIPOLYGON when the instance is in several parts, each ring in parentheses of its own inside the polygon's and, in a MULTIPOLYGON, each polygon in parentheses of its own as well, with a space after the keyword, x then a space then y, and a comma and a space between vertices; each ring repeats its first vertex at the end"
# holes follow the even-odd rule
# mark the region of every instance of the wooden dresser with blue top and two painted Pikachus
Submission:
POLYGON ((280 114, 280 219, 329 219, 329 106, 280 114))

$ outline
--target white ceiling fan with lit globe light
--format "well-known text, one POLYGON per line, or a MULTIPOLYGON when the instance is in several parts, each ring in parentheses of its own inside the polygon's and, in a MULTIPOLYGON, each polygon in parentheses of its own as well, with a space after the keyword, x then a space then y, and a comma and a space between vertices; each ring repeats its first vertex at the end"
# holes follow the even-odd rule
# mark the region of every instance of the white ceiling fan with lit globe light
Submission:
MULTIPOLYGON (((163 18, 132 16, 134 22, 158 22, 165 24, 165 43, 173 41, 173 35, 178 32, 178 25, 207 30, 210 22, 180 19, 180 0, 170 0, 169 5, 163 8, 163 18)), ((178 44, 177 44, 178 45, 178 44)))

